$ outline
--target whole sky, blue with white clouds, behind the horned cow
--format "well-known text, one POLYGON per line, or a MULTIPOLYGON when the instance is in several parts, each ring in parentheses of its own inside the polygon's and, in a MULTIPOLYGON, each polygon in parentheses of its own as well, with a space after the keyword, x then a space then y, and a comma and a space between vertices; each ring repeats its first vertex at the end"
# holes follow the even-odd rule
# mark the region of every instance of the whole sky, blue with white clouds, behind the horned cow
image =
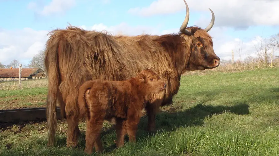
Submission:
MULTIPOLYGON (((252 5, 253 0, 186 2, 190 10, 188 26, 205 28, 211 20, 208 8, 214 11, 215 25, 209 33, 214 39, 215 53, 224 59, 230 59, 230 52, 236 50, 236 38, 243 40, 242 53, 246 55, 255 53, 251 42, 256 37, 279 33, 279 18, 271 16, 279 14, 275 8, 278 2, 260 0, 252 5), (267 5, 274 8, 265 8, 267 5)), ((17 59, 28 64, 33 55, 43 50, 47 32, 65 28, 68 23, 88 30, 160 35, 178 32, 185 12, 183 0, 0 0, 0 62, 9 64, 17 59)))

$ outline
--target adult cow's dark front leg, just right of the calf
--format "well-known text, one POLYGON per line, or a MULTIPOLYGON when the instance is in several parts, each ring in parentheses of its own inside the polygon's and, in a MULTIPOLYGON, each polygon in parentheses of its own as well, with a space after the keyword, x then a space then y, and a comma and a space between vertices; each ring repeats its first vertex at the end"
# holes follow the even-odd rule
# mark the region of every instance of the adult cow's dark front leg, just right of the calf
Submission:
POLYGON ((156 113, 159 111, 162 100, 155 100, 152 103, 147 103, 145 110, 148 116, 147 130, 152 133, 155 131, 155 117, 156 113))

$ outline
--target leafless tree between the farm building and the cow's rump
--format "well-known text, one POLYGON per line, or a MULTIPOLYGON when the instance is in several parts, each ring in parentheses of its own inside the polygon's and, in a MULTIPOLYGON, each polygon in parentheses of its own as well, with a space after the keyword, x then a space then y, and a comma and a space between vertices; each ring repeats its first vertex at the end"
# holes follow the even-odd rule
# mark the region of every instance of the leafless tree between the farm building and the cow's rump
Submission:
POLYGON ((44 59, 45 59, 45 51, 39 51, 38 54, 32 57, 30 60, 30 64, 28 64, 28 67, 30 68, 40 68, 42 72, 47 75, 46 69, 45 69, 45 64, 44 64, 44 59))

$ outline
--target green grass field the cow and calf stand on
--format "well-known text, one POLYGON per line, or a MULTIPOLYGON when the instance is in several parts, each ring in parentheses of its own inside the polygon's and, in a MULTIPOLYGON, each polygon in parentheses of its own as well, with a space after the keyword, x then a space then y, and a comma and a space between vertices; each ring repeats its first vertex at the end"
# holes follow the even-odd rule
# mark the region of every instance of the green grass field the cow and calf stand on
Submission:
MULTIPOLYGON (((174 104, 163 107, 156 117, 155 134, 145 131, 144 116, 137 143, 126 142, 116 149, 115 130, 106 122, 102 132, 105 152, 101 155, 278 156, 278 75, 277 68, 182 76, 174 104)), ((46 93, 46 87, 4 90, 0 91, 0 100, 38 96, 45 102, 46 93)), ((0 155, 85 155, 85 126, 85 122, 79 124, 79 147, 70 149, 65 146, 65 121, 59 121, 58 142, 51 148, 46 146, 46 122, 13 125, 1 130, 0 155)))

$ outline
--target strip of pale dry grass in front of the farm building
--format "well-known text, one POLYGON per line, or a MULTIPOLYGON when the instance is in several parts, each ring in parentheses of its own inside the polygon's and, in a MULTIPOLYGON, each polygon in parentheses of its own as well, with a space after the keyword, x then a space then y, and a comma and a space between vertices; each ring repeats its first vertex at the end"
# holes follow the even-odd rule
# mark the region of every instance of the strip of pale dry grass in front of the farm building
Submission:
POLYGON ((0 90, 18 90, 23 88, 37 88, 37 87, 47 87, 47 79, 37 79, 37 80, 22 80, 21 86, 18 86, 18 81, 6 81, 0 83, 0 90))

